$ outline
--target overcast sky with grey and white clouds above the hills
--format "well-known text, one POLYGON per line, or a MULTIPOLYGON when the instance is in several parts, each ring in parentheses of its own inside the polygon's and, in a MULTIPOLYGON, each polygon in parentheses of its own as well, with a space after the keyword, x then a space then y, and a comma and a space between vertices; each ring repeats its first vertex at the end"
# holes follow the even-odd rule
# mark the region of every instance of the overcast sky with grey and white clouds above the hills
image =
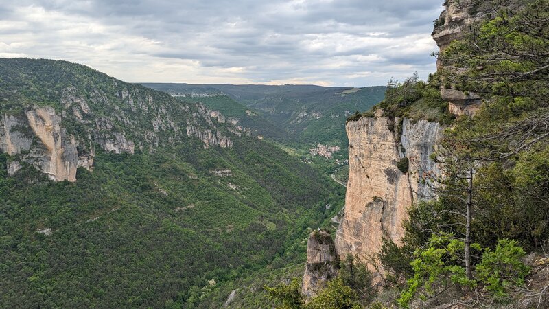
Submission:
POLYGON ((443 0, 0 0, 0 57, 126 82, 384 85, 436 70, 443 0))

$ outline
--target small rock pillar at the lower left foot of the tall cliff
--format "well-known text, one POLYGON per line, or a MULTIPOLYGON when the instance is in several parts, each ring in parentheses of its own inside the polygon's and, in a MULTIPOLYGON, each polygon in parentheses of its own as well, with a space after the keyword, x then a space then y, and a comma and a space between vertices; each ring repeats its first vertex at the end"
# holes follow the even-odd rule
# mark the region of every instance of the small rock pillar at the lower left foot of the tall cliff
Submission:
POLYGON ((301 290, 305 297, 316 296, 327 280, 336 277, 338 261, 330 234, 325 231, 312 232, 307 242, 307 264, 301 290))

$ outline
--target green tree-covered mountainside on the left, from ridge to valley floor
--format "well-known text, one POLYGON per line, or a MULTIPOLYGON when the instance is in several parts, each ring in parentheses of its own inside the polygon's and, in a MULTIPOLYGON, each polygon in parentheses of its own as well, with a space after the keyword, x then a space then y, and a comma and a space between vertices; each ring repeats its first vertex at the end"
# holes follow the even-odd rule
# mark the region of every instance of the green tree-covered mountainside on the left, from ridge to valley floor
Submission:
POLYGON ((205 106, 82 65, 1 59, 0 119, 0 307, 194 308, 274 260, 302 262, 305 229, 342 199, 205 106), (32 118, 46 106, 53 123, 32 118), (75 181, 50 180, 45 167, 71 160, 50 133, 74 146, 75 181))

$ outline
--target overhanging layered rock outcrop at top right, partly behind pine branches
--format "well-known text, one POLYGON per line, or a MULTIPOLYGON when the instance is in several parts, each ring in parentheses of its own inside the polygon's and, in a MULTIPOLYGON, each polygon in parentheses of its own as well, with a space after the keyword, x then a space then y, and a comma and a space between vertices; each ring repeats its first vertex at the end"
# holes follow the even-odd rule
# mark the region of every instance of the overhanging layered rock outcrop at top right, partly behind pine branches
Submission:
MULTIPOLYGON (((439 52, 443 52, 454 40, 463 38, 469 31, 469 25, 486 16, 482 1, 460 1, 447 0, 445 10, 441 13, 431 34, 436 45, 439 45, 439 52)), ((443 63, 436 61, 437 69, 443 68, 443 63)), ((473 115, 479 108, 480 96, 476 93, 465 94, 455 89, 441 88, 443 100, 449 102, 449 111, 454 115, 473 115)))

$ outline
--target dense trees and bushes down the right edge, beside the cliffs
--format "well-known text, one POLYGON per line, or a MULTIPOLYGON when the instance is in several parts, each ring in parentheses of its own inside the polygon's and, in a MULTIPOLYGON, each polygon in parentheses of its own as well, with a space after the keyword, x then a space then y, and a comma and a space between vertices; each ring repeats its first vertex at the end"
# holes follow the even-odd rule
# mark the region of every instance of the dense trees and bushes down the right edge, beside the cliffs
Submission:
POLYGON ((445 130, 436 153, 444 177, 425 177, 439 198, 410 209, 403 247, 384 244, 395 284, 408 279, 401 306, 456 284, 475 291, 463 297, 469 306, 524 297, 522 258, 549 238, 549 3, 509 4, 492 1, 491 17, 440 55, 443 85, 483 103, 445 130))

